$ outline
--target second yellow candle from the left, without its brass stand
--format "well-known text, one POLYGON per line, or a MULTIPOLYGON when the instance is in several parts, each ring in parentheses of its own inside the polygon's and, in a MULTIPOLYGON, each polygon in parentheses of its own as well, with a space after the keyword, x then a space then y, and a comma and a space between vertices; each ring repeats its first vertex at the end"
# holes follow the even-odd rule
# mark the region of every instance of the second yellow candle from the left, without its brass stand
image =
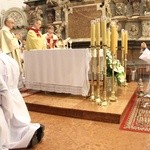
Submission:
POLYGON ((96 19, 95 25, 95 34, 96 34, 96 45, 100 45, 100 19, 96 19))

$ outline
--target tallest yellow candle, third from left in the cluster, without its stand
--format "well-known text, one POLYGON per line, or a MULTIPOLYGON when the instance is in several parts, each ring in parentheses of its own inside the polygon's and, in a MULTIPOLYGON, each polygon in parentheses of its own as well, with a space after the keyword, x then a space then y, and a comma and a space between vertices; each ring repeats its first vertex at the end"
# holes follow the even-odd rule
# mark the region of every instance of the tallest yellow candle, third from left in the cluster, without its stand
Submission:
POLYGON ((106 34, 106 18, 102 18, 102 44, 107 45, 107 34, 106 34))

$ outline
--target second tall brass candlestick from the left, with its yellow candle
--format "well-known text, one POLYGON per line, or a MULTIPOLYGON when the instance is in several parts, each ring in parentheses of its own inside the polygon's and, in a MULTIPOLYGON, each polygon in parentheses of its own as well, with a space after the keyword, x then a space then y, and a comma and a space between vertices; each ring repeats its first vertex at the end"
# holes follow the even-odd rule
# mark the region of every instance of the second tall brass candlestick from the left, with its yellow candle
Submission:
POLYGON ((97 75, 97 92, 96 92, 96 103, 101 104, 101 99, 100 99, 100 19, 96 19, 96 28, 95 28, 95 33, 96 33, 96 75, 97 75))

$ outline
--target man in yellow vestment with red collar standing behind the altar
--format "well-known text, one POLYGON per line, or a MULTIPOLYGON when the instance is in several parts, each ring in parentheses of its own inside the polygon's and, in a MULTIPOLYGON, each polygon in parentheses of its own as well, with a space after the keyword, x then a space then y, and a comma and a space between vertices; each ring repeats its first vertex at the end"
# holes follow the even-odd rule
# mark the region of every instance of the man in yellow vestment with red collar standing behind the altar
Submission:
POLYGON ((34 24, 29 28, 26 39, 27 50, 46 49, 46 41, 40 32, 42 22, 40 19, 34 20, 34 24))

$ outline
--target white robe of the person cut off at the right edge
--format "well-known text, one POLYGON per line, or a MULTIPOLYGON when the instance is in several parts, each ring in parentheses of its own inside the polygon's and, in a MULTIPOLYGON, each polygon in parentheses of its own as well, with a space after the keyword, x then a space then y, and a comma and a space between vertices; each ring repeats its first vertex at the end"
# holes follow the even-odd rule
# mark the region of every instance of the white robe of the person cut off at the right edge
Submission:
MULTIPOLYGON (((147 62, 147 64, 150 64, 150 50, 148 48, 146 48, 143 53, 140 55, 139 57, 141 60, 147 62)), ((149 83, 147 85, 147 89, 146 89, 146 97, 150 97, 150 80, 149 83)))

